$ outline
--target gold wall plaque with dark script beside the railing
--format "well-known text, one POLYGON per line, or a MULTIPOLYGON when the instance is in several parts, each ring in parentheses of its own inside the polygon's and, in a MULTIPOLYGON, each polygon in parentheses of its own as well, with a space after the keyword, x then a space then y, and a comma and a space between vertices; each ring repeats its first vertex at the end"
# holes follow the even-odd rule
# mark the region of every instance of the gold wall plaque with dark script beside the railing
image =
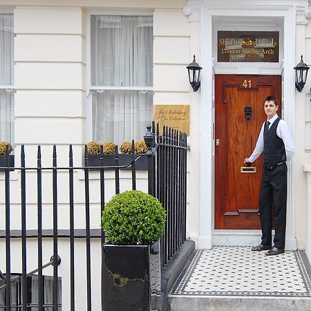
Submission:
POLYGON ((169 126, 189 135, 189 105, 153 105, 153 120, 159 123, 160 134, 163 126, 169 126))

